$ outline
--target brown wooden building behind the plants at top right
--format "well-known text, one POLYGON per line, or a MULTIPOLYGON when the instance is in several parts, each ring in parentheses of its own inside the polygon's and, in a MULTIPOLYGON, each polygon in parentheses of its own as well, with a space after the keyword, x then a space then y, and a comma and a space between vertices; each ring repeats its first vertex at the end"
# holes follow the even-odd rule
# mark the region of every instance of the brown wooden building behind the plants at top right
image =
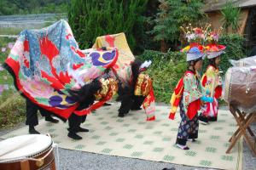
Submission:
MULTIPOLYGON (((204 12, 209 17, 209 22, 214 29, 223 25, 220 10, 224 8, 227 0, 205 0, 204 12)), ((241 8, 240 27, 237 33, 246 38, 247 48, 256 47, 256 0, 231 0, 241 8)))

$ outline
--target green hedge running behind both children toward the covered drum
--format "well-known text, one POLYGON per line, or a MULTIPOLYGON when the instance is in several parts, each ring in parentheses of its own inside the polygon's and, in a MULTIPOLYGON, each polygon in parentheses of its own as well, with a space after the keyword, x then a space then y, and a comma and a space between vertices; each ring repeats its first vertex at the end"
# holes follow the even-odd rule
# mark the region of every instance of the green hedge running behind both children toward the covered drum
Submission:
MULTIPOLYGON (((245 57, 243 42, 244 38, 236 34, 220 37, 218 43, 226 46, 226 53, 221 55, 220 67, 222 71, 227 71, 231 66, 229 59, 241 59, 245 57)), ((156 100, 158 102, 169 103, 177 81, 183 76, 187 68, 185 54, 180 52, 161 53, 159 51, 145 50, 138 58, 153 61, 147 72, 154 79, 156 100)), ((207 59, 205 59, 205 66, 202 73, 206 71, 207 63, 207 59)))

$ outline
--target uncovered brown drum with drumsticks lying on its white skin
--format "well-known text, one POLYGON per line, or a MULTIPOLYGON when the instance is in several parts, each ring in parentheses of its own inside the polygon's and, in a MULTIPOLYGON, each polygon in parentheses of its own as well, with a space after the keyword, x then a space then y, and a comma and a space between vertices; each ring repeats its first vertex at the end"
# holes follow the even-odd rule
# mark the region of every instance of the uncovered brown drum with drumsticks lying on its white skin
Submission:
POLYGON ((0 142, 0 169, 55 169, 52 140, 43 134, 21 135, 0 142))

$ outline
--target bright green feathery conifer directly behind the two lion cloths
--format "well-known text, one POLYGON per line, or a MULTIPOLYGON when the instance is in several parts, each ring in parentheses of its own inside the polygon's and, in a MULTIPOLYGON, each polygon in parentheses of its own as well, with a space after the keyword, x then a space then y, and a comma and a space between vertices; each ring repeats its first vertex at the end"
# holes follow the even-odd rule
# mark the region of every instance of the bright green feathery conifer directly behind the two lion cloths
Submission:
POLYGON ((143 34, 142 14, 147 3, 148 0, 72 0, 68 21, 80 48, 90 48, 96 37, 124 31, 134 49, 143 34))

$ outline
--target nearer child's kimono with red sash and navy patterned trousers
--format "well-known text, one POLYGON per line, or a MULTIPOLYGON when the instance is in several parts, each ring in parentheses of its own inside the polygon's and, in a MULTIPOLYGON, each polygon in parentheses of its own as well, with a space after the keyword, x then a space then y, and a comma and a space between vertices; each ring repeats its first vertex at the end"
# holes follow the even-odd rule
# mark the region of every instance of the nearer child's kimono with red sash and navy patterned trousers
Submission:
POLYGON ((198 137, 197 112, 201 109, 201 97, 205 90, 195 71, 185 73, 183 88, 183 96, 179 103, 182 120, 178 127, 176 144, 186 145, 188 139, 197 139, 198 137))

